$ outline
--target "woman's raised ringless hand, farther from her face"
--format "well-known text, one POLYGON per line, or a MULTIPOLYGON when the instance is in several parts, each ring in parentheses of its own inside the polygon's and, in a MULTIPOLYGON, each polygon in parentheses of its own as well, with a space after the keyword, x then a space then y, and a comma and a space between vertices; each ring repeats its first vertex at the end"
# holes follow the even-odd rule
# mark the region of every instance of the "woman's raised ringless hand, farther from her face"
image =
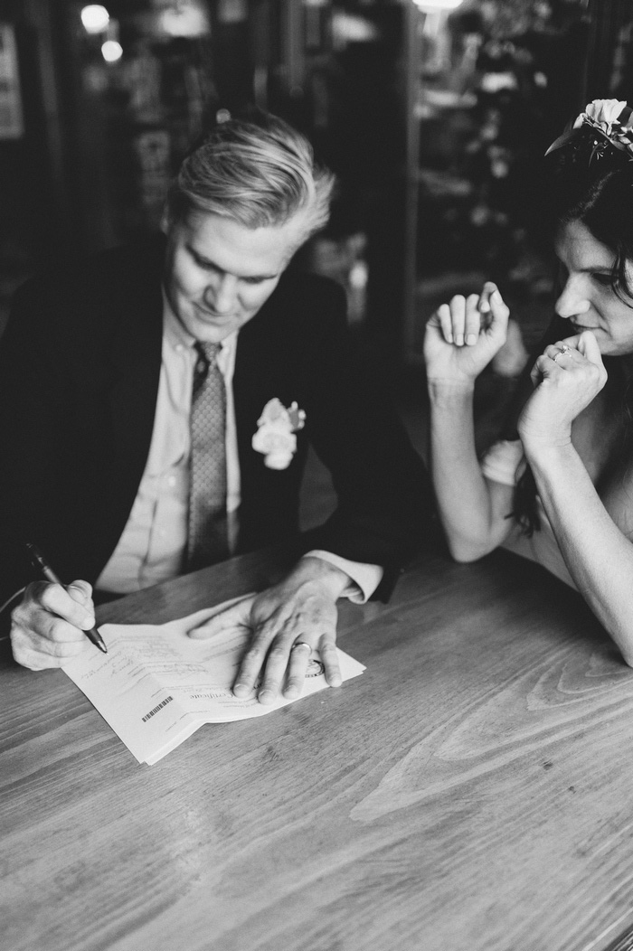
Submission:
POLYGON ((503 347, 509 310, 492 281, 479 294, 457 295, 426 324, 429 383, 472 383, 503 347))

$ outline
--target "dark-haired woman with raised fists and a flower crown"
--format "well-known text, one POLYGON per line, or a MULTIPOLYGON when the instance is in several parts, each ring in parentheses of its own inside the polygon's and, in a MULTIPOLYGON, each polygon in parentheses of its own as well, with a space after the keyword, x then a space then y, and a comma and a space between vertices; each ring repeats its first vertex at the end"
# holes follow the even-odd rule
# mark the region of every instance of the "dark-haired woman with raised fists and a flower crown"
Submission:
MULTIPOLYGON (((499 545, 583 593, 633 666, 633 114, 595 100, 548 149, 563 290, 513 437, 483 462, 475 379, 504 344, 495 284, 429 320, 431 470, 448 545, 499 545)), ((516 419, 516 417, 515 417, 516 419)))

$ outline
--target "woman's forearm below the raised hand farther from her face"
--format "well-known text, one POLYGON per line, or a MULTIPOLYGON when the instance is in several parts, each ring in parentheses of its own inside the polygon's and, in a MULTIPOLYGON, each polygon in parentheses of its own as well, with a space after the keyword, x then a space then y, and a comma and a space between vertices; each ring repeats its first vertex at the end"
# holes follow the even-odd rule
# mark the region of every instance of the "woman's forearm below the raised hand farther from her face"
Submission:
POLYGON ((494 511, 477 458, 473 390, 472 385, 428 385, 431 475, 448 546, 458 561, 492 551, 508 530, 494 511))

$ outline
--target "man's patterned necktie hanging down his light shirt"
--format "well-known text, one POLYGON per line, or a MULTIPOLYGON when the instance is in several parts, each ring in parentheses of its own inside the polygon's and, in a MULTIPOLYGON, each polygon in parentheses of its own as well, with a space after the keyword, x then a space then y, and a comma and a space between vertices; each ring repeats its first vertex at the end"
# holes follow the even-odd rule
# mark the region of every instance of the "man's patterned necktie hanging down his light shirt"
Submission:
POLYGON ((227 394, 216 362, 220 343, 195 344, 191 394, 188 570, 223 561, 227 544, 227 394))

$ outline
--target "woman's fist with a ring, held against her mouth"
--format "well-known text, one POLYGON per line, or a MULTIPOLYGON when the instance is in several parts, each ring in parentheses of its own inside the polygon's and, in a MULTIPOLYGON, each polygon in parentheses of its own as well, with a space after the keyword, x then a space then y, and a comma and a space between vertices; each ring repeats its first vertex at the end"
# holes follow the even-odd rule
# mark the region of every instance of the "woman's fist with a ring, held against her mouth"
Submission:
POLYGON ((598 341, 590 330, 545 347, 532 369, 535 390, 519 419, 525 450, 565 446, 571 424, 606 382, 598 341))

